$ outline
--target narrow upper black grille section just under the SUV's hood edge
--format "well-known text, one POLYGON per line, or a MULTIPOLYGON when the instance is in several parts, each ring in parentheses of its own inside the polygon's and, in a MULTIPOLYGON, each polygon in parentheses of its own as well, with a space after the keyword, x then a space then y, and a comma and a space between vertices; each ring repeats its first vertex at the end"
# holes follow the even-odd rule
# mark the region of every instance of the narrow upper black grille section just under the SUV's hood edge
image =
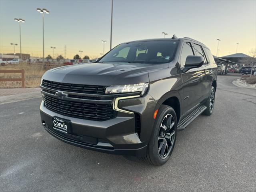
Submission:
POLYGON ((60 83, 54 81, 43 80, 43 86, 50 89, 76 92, 76 93, 87 93, 87 94, 105 94, 106 86, 98 85, 82 85, 82 84, 69 84, 60 83))

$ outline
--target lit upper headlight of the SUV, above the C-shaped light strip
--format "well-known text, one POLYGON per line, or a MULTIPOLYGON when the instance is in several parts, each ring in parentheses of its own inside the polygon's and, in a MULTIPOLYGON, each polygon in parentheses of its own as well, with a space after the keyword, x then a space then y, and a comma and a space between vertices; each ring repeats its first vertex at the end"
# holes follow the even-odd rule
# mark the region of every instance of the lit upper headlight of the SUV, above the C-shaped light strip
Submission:
POLYGON ((141 92, 143 95, 148 89, 148 83, 139 83, 131 85, 116 85, 109 86, 106 88, 106 94, 115 94, 115 93, 131 93, 131 92, 141 92))

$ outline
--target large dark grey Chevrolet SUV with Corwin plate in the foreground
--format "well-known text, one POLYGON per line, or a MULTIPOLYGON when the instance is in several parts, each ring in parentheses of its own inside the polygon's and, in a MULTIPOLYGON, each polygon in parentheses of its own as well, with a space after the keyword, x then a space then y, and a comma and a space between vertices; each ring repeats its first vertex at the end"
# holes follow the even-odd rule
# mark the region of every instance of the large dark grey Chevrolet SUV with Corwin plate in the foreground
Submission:
POLYGON ((216 80, 210 49, 191 38, 122 43, 42 76, 42 125, 68 144, 162 165, 177 130, 212 114, 216 80))

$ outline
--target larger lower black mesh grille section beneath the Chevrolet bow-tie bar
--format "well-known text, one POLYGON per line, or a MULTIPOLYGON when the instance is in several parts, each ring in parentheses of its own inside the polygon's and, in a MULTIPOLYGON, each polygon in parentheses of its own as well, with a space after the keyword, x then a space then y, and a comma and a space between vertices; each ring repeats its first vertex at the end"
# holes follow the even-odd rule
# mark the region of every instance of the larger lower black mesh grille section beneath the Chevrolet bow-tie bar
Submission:
POLYGON ((88 120, 104 121, 117 116, 113 104, 73 102, 45 95, 44 105, 58 114, 88 120))

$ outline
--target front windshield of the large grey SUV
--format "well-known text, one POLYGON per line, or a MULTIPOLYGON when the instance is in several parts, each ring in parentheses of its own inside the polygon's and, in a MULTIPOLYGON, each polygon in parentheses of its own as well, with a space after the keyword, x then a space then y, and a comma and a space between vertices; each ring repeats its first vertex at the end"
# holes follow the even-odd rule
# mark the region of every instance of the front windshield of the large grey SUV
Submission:
POLYGON ((160 64, 174 58, 177 40, 130 42, 116 46, 98 62, 160 64))

